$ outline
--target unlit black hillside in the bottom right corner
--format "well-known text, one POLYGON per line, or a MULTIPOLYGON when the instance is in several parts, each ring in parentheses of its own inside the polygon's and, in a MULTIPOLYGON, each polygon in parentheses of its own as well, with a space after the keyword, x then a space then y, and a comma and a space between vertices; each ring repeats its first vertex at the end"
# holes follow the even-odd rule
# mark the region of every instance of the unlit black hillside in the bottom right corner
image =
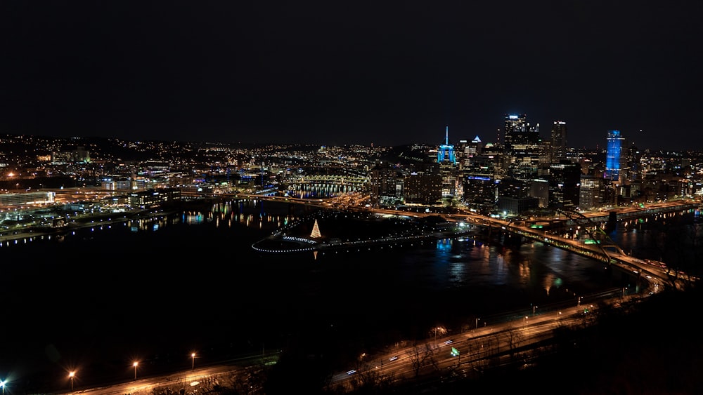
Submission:
POLYGON ((608 309, 595 326, 566 330, 527 367, 520 361, 475 378, 433 377, 355 394, 703 394, 702 290, 646 299, 608 309))

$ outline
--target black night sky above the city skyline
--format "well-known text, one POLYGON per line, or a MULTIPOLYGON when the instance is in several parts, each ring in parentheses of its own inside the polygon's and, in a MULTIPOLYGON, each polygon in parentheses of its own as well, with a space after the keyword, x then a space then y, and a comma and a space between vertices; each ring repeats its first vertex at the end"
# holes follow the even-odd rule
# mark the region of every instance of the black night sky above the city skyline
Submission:
POLYGON ((3 1, 0 133, 703 149, 703 1, 474 3, 3 1))

